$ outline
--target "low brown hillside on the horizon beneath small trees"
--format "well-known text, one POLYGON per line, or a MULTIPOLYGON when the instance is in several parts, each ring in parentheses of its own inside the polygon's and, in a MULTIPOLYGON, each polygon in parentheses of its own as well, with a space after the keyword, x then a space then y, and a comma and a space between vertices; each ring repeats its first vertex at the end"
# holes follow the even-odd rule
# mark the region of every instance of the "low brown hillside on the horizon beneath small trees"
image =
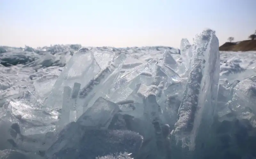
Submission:
POLYGON ((245 40, 238 43, 227 42, 220 46, 220 51, 256 51, 256 40, 245 40))

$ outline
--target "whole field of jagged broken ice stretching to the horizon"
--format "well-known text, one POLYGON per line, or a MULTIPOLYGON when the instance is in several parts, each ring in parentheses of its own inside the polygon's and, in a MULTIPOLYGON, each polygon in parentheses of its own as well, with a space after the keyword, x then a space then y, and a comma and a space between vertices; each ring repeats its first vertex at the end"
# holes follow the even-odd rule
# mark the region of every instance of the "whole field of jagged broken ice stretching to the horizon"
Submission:
POLYGON ((256 158, 256 52, 0 47, 0 159, 256 158))

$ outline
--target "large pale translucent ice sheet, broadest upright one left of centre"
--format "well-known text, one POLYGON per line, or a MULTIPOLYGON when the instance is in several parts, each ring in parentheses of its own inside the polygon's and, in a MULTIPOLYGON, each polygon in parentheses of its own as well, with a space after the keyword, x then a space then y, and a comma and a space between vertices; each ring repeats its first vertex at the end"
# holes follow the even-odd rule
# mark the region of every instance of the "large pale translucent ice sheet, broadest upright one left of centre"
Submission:
MULTIPOLYGON (((73 84, 77 82, 81 83, 81 87, 84 87, 89 83, 93 76, 100 72, 101 68, 99 63, 94 58, 96 50, 97 49, 94 49, 92 52, 88 48, 81 48, 71 57, 71 59, 65 65, 59 78, 55 82, 50 95, 45 100, 45 105, 47 107, 51 107, 53 109, 61 108, 60 103, 62 103, 63 99, 62 92, 64 86, 69 86, 72 88, 73 84)), ((110 54, 112 53, 112 51, 109 52, 110 54)), ((108 54, 107 51, 101 53, 108 54)), ((104 57, 104 55, 102 55, 102 57, 104 57)), ((102 60, 109 60, 109 58, 102 60)))

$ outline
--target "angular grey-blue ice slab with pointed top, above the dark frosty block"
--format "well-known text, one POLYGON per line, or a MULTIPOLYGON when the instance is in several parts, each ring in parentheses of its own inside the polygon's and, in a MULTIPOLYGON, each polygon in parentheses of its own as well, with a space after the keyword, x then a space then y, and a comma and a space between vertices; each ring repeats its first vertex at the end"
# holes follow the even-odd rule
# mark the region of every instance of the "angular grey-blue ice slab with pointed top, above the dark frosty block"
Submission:
POLYGON ((77 123, 88 127, 107 128, 119 111, 117 104, 100 97, 77 119, 77 123))

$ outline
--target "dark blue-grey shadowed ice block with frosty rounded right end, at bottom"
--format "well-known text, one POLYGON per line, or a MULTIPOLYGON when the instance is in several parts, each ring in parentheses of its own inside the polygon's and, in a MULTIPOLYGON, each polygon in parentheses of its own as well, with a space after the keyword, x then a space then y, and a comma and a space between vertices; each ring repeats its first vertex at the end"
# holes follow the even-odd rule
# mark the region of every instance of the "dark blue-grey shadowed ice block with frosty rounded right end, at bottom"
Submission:
POLYGON ((95 159, 117 152, 138 152, 143 138, 132 131, 90 129, 69 123, 46 151, 49 159, 95 159))

